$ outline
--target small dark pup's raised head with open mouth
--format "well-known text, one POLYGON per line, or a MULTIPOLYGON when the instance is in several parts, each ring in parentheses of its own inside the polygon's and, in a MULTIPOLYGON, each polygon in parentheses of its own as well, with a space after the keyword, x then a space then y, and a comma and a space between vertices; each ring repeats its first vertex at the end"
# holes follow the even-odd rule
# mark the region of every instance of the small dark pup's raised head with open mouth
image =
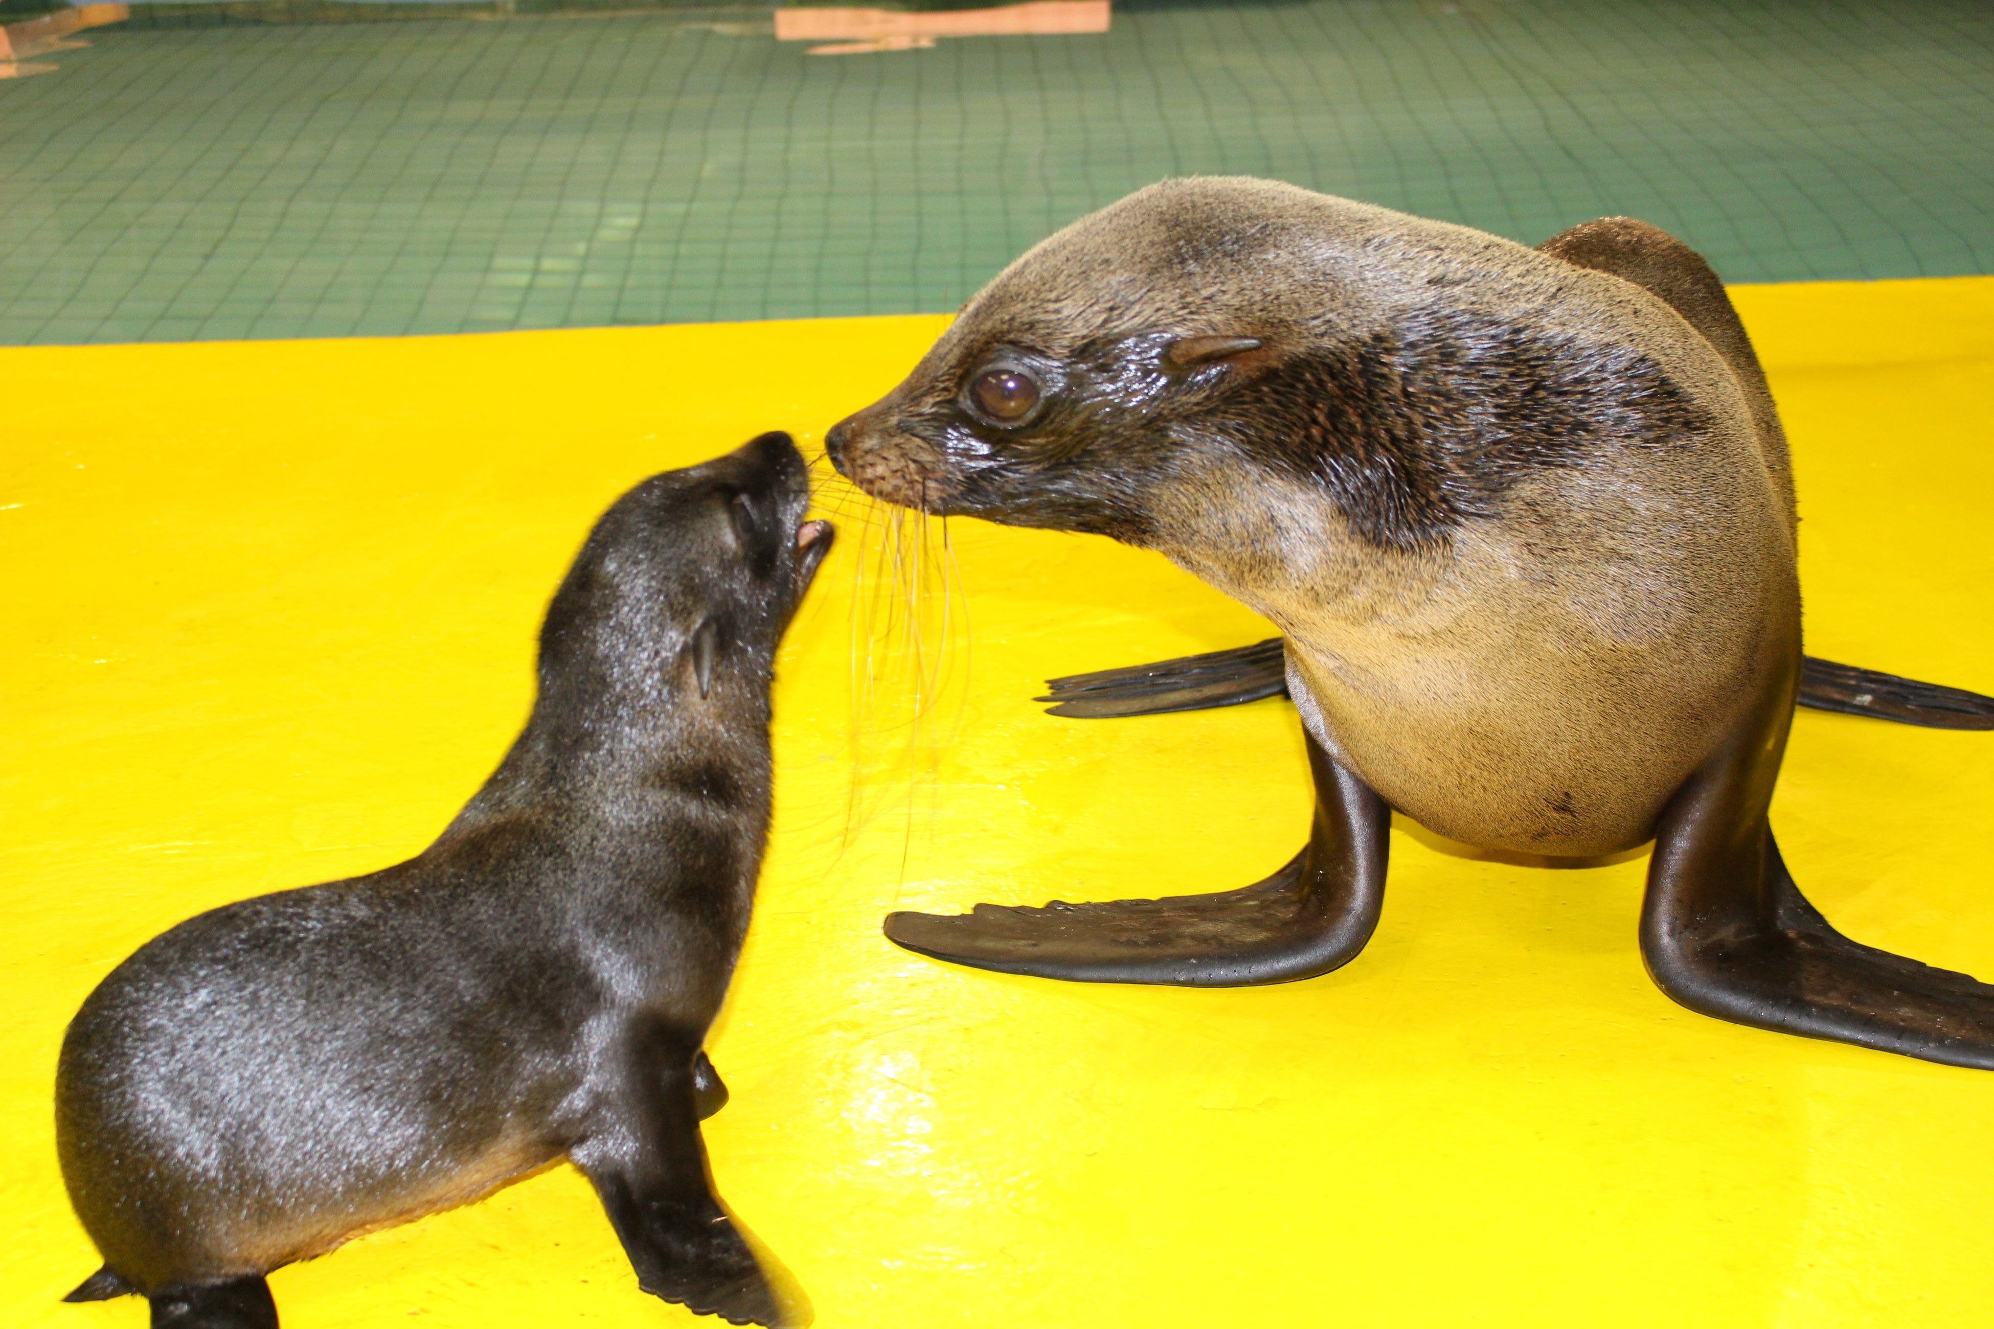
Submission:
POLYGON ((766 705, 776 644, 831 548, 808 506, 810 472, 782 432, 618 498, 546 612, 542 705, 602 723, 720 691, 766 705))

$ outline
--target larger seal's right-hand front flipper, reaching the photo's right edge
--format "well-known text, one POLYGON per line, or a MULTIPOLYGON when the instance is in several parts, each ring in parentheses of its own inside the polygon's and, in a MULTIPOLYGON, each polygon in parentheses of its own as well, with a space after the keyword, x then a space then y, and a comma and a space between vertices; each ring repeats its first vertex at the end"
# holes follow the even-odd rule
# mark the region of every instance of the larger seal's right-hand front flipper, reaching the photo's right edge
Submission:
POLYGON ((1789 677, 1663 809, 1641 958, 1719 1020, 1994 1070, 1994 986, 1848 940, 1787 873, 1767 807, 1791 695, 1789 677))

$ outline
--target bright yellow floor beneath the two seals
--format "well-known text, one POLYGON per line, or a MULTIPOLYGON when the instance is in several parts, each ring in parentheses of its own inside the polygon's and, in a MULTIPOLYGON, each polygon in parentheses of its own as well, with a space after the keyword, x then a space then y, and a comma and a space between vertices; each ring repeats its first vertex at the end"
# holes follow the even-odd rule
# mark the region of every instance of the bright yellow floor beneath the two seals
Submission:
MULTIPOLYGON (((1739 297, 1795 436, 1811 648, 1994 691, 1994 279, 1739 297)), ((594 514, 762 428, 814 442, 941 325, 0 351, 0 1323, 146 1317, 56 1303, 96 1267, 50 1140, 90 986, 193 911, 421 849, 518 725, 594 514)), ((776 833, 712 1040, 722 1194, 824 1329, 1994 1315, 1994 1076, 1669 1004, 1635 952, 1643 861, 1525 869, 1402 827, 1376 940, 1282 988, 891 948, 893 907, 1244 885, 1300 843, 1308 785, 1280 701, 1031 705, 1047 673, 1268 632, 1161 558, 951 524, 959 594, 913 660, 861 534, 786 650, 776 833), (905 725, 913 677, 943 685, 905 725)), ((1860 940, 1994 974, 1990 817, 1994 733, 1795 725, 1775 825, 1860 940)), ((636 1291, 564 1168, 271 1281, 287 1329, 694 1323, 636 1291)))

